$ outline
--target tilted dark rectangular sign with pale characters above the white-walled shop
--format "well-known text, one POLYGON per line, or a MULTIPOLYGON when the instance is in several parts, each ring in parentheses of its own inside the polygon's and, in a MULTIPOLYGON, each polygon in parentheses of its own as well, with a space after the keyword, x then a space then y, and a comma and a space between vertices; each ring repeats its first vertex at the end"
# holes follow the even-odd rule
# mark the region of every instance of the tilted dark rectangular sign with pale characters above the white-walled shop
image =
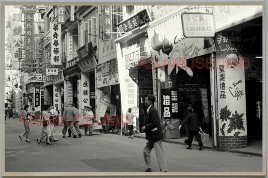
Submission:
POLYGON ((135 16, 129 18, 126 21, 123 21, 117 24, 118 31, 120 35, 124 35, 124 33, 130 32, 138 27, 141 27, 151 21, 151 17, 147 10, 142 10, 141 12, 137 13, 135 16))

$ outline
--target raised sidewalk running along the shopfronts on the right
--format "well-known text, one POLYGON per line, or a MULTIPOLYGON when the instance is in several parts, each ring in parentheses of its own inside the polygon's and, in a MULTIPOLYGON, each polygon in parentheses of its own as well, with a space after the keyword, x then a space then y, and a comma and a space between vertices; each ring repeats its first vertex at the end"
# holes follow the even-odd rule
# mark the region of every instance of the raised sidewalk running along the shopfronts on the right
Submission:
MULTIPOLYGON (((138 138, 144 138, 145 139, 145 133, 139 133, 135 134, 134 137, 138 138)), ((168 142, 168 143, 176 143, 176 144, 184 144, 187 145, 184 140, 186 140, 187 137, 183 136, 181 138, 174 138, 174 139, 163 139, 162 141, 168 142)), ((212 144, 212 137, 210 136, 209 142, 203 142, 204 148, 208 149, 216 149, 215 146, 212 144)), ((193 141, 193 146, 198 146, 197 141, 193 141)), ((241 154, 249 154, 249 155, 255 155, 255 156, 262 156, 262 139, 249 139, 248 140, 248 146, 246 148, 240 148, 240 149, 229 149, 230 152, 237 152, 241 154)))

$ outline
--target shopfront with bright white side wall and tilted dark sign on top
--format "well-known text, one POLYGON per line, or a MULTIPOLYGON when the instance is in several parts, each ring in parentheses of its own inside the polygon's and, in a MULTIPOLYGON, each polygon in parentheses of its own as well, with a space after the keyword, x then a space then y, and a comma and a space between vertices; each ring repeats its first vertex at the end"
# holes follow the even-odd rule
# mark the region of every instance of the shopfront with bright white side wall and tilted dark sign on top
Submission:
MULTIPOLYGON (((152 70, 140 63, 149 64, 150 47, 146 38, 146 28, 151 21, 146 10, 118 24, 120 32, 131 32, 117 39, 117 58, 121 91, 122 113, 132 108, 134 114, 134 128, 139 132, 144 125, 144 99, 153 94, 152 70), (126 25, 130 22, 130 25, 126 25), (140 27, 135 25, 137 22, 140 27), (141 25, 140 25, 141 24, 141 25), (125 28, 121 28, 125 27, 125 28), (131 28, 133 27, 133 28, 131 28), (131 28, 131 29, 129 29, 131 28)), ((156 106, 157 107, 157 106, 156 106)))

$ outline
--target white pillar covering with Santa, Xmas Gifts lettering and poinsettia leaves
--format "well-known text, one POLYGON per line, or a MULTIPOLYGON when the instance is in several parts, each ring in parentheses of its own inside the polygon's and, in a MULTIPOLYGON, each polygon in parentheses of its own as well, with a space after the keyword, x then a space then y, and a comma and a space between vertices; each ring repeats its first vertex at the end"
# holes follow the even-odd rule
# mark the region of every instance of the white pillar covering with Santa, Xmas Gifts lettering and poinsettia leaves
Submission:
POLYGON ((216 36, 219 136, 247 135, 244 62, 227 37, 216 36))

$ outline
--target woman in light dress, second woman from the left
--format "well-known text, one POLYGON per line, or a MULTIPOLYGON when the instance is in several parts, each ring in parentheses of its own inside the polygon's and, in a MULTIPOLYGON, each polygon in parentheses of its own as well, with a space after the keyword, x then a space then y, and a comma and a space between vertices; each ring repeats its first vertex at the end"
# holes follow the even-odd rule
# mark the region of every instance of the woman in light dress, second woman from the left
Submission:
POLYGON ((43 113, 42 113, 42 123, 43 123, 43 130, 42 130, 42 134, 41 137, 37 138, 37 142, 38 144, 40 144, 40 142, 44 142, 42 139, 46 136, 46 143, 47 144, 52 144, 49 141, 49 138, 51 136, 51 129, 50 129, 50 113, 48 112, 48 105, 44 105, 43 106, 43 113))

